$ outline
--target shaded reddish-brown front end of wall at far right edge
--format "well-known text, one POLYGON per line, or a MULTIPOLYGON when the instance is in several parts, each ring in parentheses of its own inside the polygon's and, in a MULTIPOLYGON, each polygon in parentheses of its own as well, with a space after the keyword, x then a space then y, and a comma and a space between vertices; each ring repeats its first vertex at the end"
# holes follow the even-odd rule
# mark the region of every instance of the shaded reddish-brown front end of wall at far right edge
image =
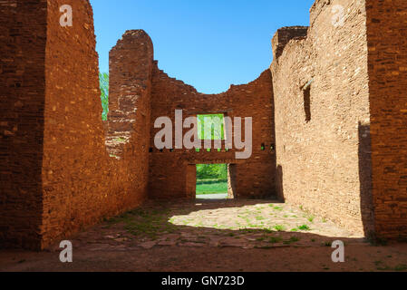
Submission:
POLYGON ((378 237, 407 237, 407 2, 367 1, 373 201, 378 237))

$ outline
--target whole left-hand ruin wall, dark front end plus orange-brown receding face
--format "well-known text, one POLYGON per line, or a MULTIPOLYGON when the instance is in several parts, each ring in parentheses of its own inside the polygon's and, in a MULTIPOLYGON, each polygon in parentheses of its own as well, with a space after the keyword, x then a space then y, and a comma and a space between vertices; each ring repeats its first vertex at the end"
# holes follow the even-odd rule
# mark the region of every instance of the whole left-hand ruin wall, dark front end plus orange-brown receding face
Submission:
MULTIPOLYGON (((141 147, 149 131, 142 131, 144 145, 116 142, 120 156, 106 150, 89 1, 7 1, 0 7, 7 16, 0 18, 6 27, 1 36, 10 43, 1 46, 0 80, 9 89, 1 93, 0 243, 40 249, 146 198, 148 165, 140 162, 148 160, 141 147), (73 27, 59 24, 65 4, 73 6, 73 27)), ((117 92, 148 95, 143 83, 131 84, 117 92)), ((145 128, 148 102, 141 101, 145 128)), ((131 138, 139 140, 137 134, 134 127, 131 138)), ((114 142, 108 145, 114 150, 114 142)))

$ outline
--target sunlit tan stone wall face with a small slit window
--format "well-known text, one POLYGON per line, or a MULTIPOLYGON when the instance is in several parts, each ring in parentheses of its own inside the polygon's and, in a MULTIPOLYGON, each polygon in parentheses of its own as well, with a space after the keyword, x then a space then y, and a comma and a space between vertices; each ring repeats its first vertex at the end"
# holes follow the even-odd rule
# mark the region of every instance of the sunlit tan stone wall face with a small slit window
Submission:
POLYGON ((271 65, 277 189, 355 234, 373 230, 365 19, 364 1, 317 0, 307 36, 286 43, 271 65), (343 23, 333 22, 334 5, 343 23))

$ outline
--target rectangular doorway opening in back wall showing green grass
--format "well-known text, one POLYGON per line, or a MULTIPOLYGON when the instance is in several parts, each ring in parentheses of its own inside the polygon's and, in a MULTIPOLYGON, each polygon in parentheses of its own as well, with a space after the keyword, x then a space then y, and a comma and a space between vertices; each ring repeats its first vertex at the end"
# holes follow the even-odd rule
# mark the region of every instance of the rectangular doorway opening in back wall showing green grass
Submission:
POLYGON ((232 164, 197 164, 196 198, 235 198, 235 174, 232 164))

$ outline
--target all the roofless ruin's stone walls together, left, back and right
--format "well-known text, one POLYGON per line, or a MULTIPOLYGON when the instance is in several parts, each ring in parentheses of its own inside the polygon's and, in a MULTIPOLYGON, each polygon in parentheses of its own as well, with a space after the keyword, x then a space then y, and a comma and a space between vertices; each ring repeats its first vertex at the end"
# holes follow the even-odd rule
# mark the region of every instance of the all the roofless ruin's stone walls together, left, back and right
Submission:
POLYGON ((218 95, 171 79, 148 35, 129 31, 111 51, 103 123, 89 1, 3 1, 0 245, 47 247, 137 207, 148 191, 192 198, 197 163, 235 164, 237 198, 276 185, 280 198, 355 234, 405 237, 405 11, 402 0, 316 0, 309 29, 277 32, 271 74, 218 95), (59 25, 65 4, 73 27, 59 25), (337 4, 348 14, 334 27, 337 4), (175 109, 254 117, 252 158, 235 160, 225 145, 154 149, 152 122, 174 120, 175 109))

